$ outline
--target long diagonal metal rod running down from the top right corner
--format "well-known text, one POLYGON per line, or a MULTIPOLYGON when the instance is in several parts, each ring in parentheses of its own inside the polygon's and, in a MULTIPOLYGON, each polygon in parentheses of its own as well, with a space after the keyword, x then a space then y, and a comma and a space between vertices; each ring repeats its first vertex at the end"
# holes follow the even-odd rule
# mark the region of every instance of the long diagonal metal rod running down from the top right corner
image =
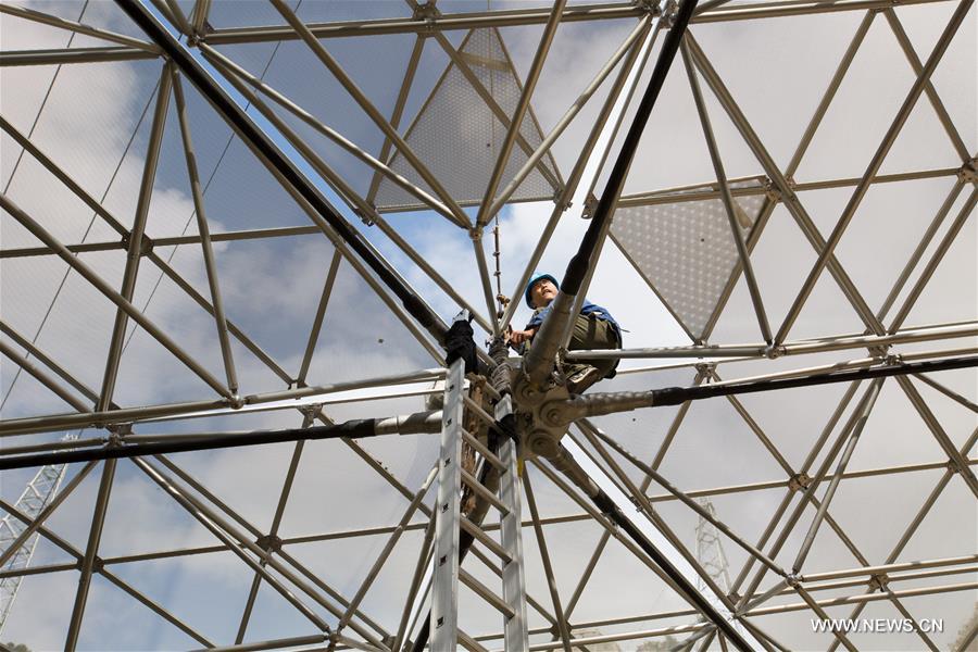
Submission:
POLYGON ((825 268, 829 255, 831 255, 835 251, 836 246, 842 238, 842 234, 845 231, 845 227, 849 226, 850 221, 855 215, 856 209, 860 206, 860 203, 865 197, 866 191, 869 189, 869 179, 876 175, 876 173, 879 171, 879 167, 882 165, 882 162, 889 153, 890 148, 896 140, 896 136, 903 128, 904 123, 906 123, 907 117, 910 117, 910 114, 913 111, 917 99, 920 97, 920 93, 924 92, 925 86, 930 79, 930 76, 933 73, 935 68, 937 68, 938 63, 941 61, 941 58, 946 51, 948 46, 951 43, 952 37, 957 32, 961 23, 964 21, 964 17, 970 9, 971 3, 973 0, 962 0, 962 2, 957 5, 954 14, 951 16, 951 20, 948 22, 948 25, 944 27, 944 30, 941 33, 941 36, 938 39, 933 51, 930 53, 930 57, 927 58, 927 63, 921 68, 920 74, 917 75, 917 78, 914 82, 914 85, 911 87, 906 99, 904 99, 900 111, 898 111, 896 116, 893 118, 893 122, 887 129, 887 134, 886 136, 883 136, 882 142, 880 142, 879 147, 876 150, 876 153, 874 153, 873 159, 869 161, 869 165, 866 167, 866 172, 863 174, 863 179, 860 181, 860 185, 856 186, 856 189, 853 191, 852 197, 845 204, 845 209, 842 211, 839 221, 836 223, 831 235, 829 235, 828 239, 826 240, 826 244, 819 253, 818 259, 815 261, 815 265, 812 267, 812 271, 808 273, 808 276, 805 279, 801 291, 798 293, 798 297, 794 299, 791 309, 785 316, 785 321, 781 323, 781 327, 778 329, 777 336, 775 337, 776 343, 780 343, 785 340, 789 329, 798 318, 802 306, 804 305, 808 296, 812 293, 812 289, 815 287, 815 284, 818 280, 818 276, 825 268))

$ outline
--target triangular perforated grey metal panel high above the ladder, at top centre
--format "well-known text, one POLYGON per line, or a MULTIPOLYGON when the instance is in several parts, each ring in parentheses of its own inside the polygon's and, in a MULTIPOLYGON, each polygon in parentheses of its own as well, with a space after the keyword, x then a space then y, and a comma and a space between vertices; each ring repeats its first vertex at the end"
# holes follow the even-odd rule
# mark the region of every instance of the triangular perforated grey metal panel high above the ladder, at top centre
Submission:
MULTIPOLYGON (((473 30, 459 51, 465 67, 502 113, 512 116, 519 101, 522 87, 498 30, 473 30)), ((530 151, 542 141, 540 129, 529 112, 524 116, 519 134, 530 151)), ((444 75, 418 111, 408 129, 405 140, 449 195, 465 205, 482 200, 486 184, 505 136, 506 124, 487 104, 465 72, 453 62, 446 68, 444 75)), ((525 148, 517 140, 503 173, 500 189, 513 179, 527 158, 525 148)), ((391 167, 418 187, 430 190, 399 153, 394 153, 391 167)), ((513 200, 553 198, 557 185, 555 170, 553 159, 544 156, 517 188, 513 200)), ((376 204, 381 210, 423 208, 417 198, 388 179, 380 184, 376 204)))

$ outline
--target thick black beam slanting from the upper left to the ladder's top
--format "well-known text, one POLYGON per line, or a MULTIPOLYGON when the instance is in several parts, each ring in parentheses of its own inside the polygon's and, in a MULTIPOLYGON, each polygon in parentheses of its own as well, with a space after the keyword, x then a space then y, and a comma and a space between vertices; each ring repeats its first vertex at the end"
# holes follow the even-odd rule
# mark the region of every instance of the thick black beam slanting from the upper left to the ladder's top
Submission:
POLYGON ((353 228, 306 178, 293 161, 286 155, 275 141, 252 122, 203 66, 173 37, 138 0, 116 0, 123 11, 156 42, 180 68, 198 90, 211 102, 237 130, 244 141, 277 171, 285 185, 302 197, 349 247, 366 263, 402 302, 406 312, 427 329, 437 341, 444 340, 447 331, 441 319, 424 305, 414 290, 403 283, 387 261, 377 256, 363 236, 353 228))

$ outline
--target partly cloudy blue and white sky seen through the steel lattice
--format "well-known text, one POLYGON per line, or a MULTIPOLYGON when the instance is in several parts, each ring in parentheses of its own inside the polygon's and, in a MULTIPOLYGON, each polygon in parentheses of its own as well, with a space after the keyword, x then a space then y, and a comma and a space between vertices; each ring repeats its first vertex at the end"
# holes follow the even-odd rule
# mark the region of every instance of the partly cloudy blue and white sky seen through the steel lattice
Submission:
MULTIPOLYGON (((41 2, 33 7, 72 20, 76 20, 80 11, 80 5, 75 3, 41 2)), ((492 7, 496 8, 497 3, 493 2, 492 7)), ((930 51, 953 7, 953 3, 940 2, 901 8, 896 12, 921 59, 930 51)), ((482 3, 464 2, 446 2, 443 7, 444 11, 482 9, 482 3)), ((310 21, 342 20, 352 16, 354 11, 367 11, 378 16, 404 14, 400 3, 327 5, 306 0, 300 7, 299 15, 310 21)), ((860 18, 861 15, 855 12, 841 12, 804 18, 743 21, 694 27, 695 38, 780 166, 783 167, 791 159, 808 116, 860 18)), ((114 4, 108 2, 89 3, 84 22, 138 35, 138 29, 127 23, 114 4)), ((280 18, 274 10, 256 2, 238 5, 234 10, 218 2, 212 15, 215 27, 276 22, 280 18)), ((619 21, 600 26, 568 24, 560 28, 535 93, 534 110, 543 134, 556 124, 632 27, 631 21, 619 21)), ((0 29, 5 50, 55 48, 67 43, 67 36, 61 30, 10 16, 0 21, 0 29)), ((501 34, 519 76, 525 78, 541 27, 505 28, 501 34)), ((450 34, 449 38, 457 45, 463 36, 461 33, 450 34)), ((969 152, 975 151, 978 140, 975 124, 978 114, 975 111, 975 84, 978 78, 974 74, 975 38, 974 14, 969 14, 933 76, 935 87, 969 152)), ((77 36, 71 46, 84 47, 95 42, 93 39, 77 36)), ((330 52, 383 114, 389 114, 392 110, 405 60, 413 45, 413 37, 364 37, 327 42, 330 52)), ((218 50, 253 74, 264 73, 263 78, 269 85, 367 151, 379 151, 383 136, 300 42, 284 42, 277 49, 273 43, 262 43, 221 47, 218 50)), ((430 41, 426 43, 415 85, 409 95, 404 125, 418 112, 447 62, 442 51, 430 41)), ((104 196, 103 204, 125 225, 131 224, 138 197, 160 68, 155 61, 63 66, 57 73, 51 96, 45 103, 33 135, 33 141, 88 192, 99 200, 104 196)), ((675 67, 666 82, 662 100, 652 114, 650 128, 628 177, 626 195, 715 179, 699 123, 693 117, 688 84, 680 73, 681 67, 675 67)), ((53 67, 3 68, 0 111, 4 118, 25 134, 30 130, 54 74, 53 67), (8 90, 14 88, 16 92, 8 90)), ((902 59, 883 16, 877 16, 850 75, 840 87, 836 101, 799 166, 795 179, 810 181, 861 175, 912 79, 912 70, 902 59)), ((761 174, 763 171, 756 160, 703 86, 727 175, 736 178, 761 174)), ((576 161, 598 103, 604 100, 605 88, 606 85, 595 93, 554 146, 554 159, 564 177, 576 161)), ((197 91, 189 84, 185 84, 184 89, 202 179, 206 179, 205 205, 211 231, 309 224, 301 209, 264 172, 247 148, 230 137, 228 128, 197 91)), ((371 176, 362 163, 313 134, 296 118, 286 120, 337 172, 350 180, 354 189, 365 191, 371 176)), ((464 136, 452 137, 449 134, 446 139, 449 147, 464 149, 464 136)), ((949 142, 932 109, 926 99, 921 99, 887 156, 881 173, 960 166, 961 161, 949 142)), ((0 184, 5 192, 61 241, 117 239, 114 231, 99 218, 93 220, 91 212, 29 155, 25 154, 18 163, 18 149, 5 134, 0 146, 3 150, 0 184)), ((430 147, 432 152, 444 151, 443 143, 430 147)), ((599 175, 599 191, 602 180, 603 176, 599 175)), ((946 177, 904 181, 875 186, 867 193, 839 244, 838 256, 874 310, 881 304, 952 184, 953 178, 946 177)), ((842 188, 800 195, 817 228, 826 236, 850 193, 851 189, 842 188)), ((962 193, 955 201, 948 222, 957 215, 965 195, 962 193)), ((337 199, 335 193, 331 198, 337 199)), ((376 226, 361 225, 338 200, 336 203, 430 301, 435 311, 443 319, 450 319, 457 311, 454 302, 378 233, 376 226)), ((515 203, 506 206, 500 215, 503 291, 514 294, 515 301, 522 299, 512 292, 513 286, 552 208, 552 202, 515 203)), ((578 198, 561 220, 538 268, 561 275, 587 228, 588 223, 580 220, 579 214, 578 198)), ((449 278, 468 302, 485 311, 472 243, 465 231, 431 212, 391 213, 386 214, 385 218, 426 261, 449 278)), ((171 102, 147 233, 150 237, 161 237, 196 234, 196 229, 176 115, 171 102)), ((939 230, 938 239, 945 230, 946 224, 939 230)), ((37 244, 7 214, 2 215, 2 239, 4 249, 37 244)), ((976 239, 978 231, 971 215, 921 293, 917 306, 911 311, 907 325, 975 318, 978 306, 978 275, 975 274, 974 259, 976 239)), ((928 252, 932 250, 933 246, 928 252)), ((487 251, 491 253, 491 249, 487 251)), ((197 291, 209 297, 199 248, 160 248, 156 253, 168 261, 197 291)), ((333 256, 331 244, 321 236, 289 237, 220 243, 215 244, 215 254, 228 317, 284 369, 296 373, 333 256)), ((120 284, 125 264, 125 254, 121 251, 87 253, 79 258, 111 285, 120 284)), ((491 256, 489 260, 491 262, 491 256)), ((752 254, 773 325, 779 324, 786 314, 814 260, 815 254, 794 221, 782 206, 776 209, 752 254)), ((28 338, 39 333, 38 347, 98 391, 115 310, 76 274, 65 275, 65 272, 66 265, 52 256, 4 260, 0 279, 3 319, 28 338), (64 285, 59 289, 62 283, 64 285), (49 306, 52 306, 50 313, 49 306)), ((904 291, 898 305, 905 294, 904 291)), ((623 252, 610 242, 602 251, 589 298, 607 306, 627 329, 627 347, 689 343, 682 328, 650 290, 647 281, 623 252)), ((145 259, 134 303, 145 306, 146 315, 201 360, 213 375, 224 377, 213 319, 145 259)), ((518 325, 528 315, 529 311, 522 306, 516 312, 514 324, 518 325)), ((824 274, 789 339, 862 330, 862 323, 838 287, 824 274)), ((145 331, 130 326, 130 334, 120 368, 115 394, 118 404, 142 405, 213 397, 212 390, 145 331)), ((711 342, 756 342, 760 339, 741 280, 717 323, 711 342)), ((962 346, 969 341, 962 340, 962 346)), ((920 344, 901 350, 930 348, 932 344, 920 344)), ((862 353, 858 351, 843 351, 798 360, 730 363, 718 367, 718 373, 725 379, 736 378, 860 355, 862 353)), ((283 389, 281 379, 240 343, 235 344, 234 359, 242 393, 283 389)), ((311 384, 368 378, 437 364, 344 261, 312 359, 311 384)), ((644 364, 642 361, 626 362, 622 368, 644 364)), ((0 371, 0 392, 5 397, 4 418, 66 410, 60 399, 25 374, 17 376, 14 383, 13 365, 9 360, 2 361, 0 371)), ((622 374, 602 384, 601 388, 637 390, 688 385, 692 377, 693 371, 689 368, 622 374)), ((974 400, 974 374, 951 372, 943 374, 941 381, 974 400)), ((963 446, 975 427, 974 413, 926 386, 919 387, 948 436, 956 446, 963 446)), ((783 465, 764 449, 757 431, 769 438, 783 454, 786 464, 798 469, 842 393, 843 388, 829 386, 789 390, 777 398, 763 394, 744 397, 741 402, 753 417, 752 422, 745 422, 728 402, 715 400, 697 404, 677 432, 660 471, 678 487, 688 490, 783 480, 783 465)), ((418 399, 388 399, 379 401, 379 404, 378 401, 354 401, 330 405, 327 413, 336 421, 343 421, 419 409, 418 399)), ((602 417, 595 422, 631 452, 649 461, 659 451, 674 415, 673 409, 657 409, 602 417)), ((845 413, 848 416, 849 412, 845 413)), ((293 411, 259 412, 183 423, 148 424, 137 428, 137 431, 294 427, 300 422, 301 416, 293 411)), ((836 428, 832 437, 838 431, 839 428, 836 428)), ((86 431, 86 435, 93 432, 86 431)), ((28 439, 30 442, 49 441, 59 436, 16 438, 14 443, 26 443, 28 439)), ((13 444, 8 441, 4 444, 13 444)), ((362 449, 337 441, 308 444, 284 513, 281 536, 338 532, 396 524, 408 500, 372 471, 362 454, 373 455, 408 491, 413 492, 430 471, 436 450, 437 441, 425 437, 364 441, 362 449)), ((271 524, 292 452, 291 444, 280 444, 181 454, 173 456, 173 461, 200 479, 248 523, 264 530, 271 524)), ((899 386, 887 381, 850 469, 945 460, 899 386)), ((76 469, 70 469, 68 478, 74 473, 76 469)), ((84 550, 88 535, 99 473, 90 474, 49 522, 53 531, 80 550, 84 550)), ((632 478, 639 478, 634 469, 629 473, 632 478)), ((873 564, 883 563, 925 497, 941 479, 942 473, 943 469, 931 469, 843 481, 832 503, 831 514, 865 560, 873 564)), ((29 475, 4 474, 0 496, 8 501, 16 500, 29 475)), ((538 471, 531 468, 529 477, 542 515, 580 512, 538 471)), ((654 485, 650 488, 650 493, 661 492, 654 485)), ((783 494, 783 488, 731 493, 714 498, 714 504, 720 517, 735 531, 749 541, 756 541, 783 494)), ((428 504, 430 500, 429 496, 428 504)), ((978 523, 971 501, 973 497, 961 478, 953 477, 918 534, 898 555, 898 561, 973 554, 978 523)), ((693 548, 695 515, 676 502, 661 503, 657 509, 680 540, 693 548)), ((803 523, 811 517, 812 512, 806 512, 803 523)), ((423 522, 417 514, 412 519, 413 524, 423 522)), ((237 527, 242 526, 237 524, 237 527)), ((788 538, 785 550, 776 556, 779 563, 790 565, 805 529, 800 526, 788 538)), ((546 532, 557 569, 559 590, 566 604, 594 550, 600 530, 592 523, 573 522, 550 525, 546 532)), ((167 499, 135 465, 120 464, 100 548, 102 556, 209 546, 214 541, 199 523, 167 499)), ((364 536, 294 544, 289 550, 324 581, 350 597, 384 543, 384 536, 364 536)), ((396 628, 400 617, 401 597, 406 593, 419 543, 421 530, 411 529, 404 534, 394 548, 391 562, 385 565, 364 600, 364 610, 388 629, 396 628)), ((549 605, 538 561, 539 551, 529 530, 524 532, 524 544, 529 591, 542 604, 549 605)), ((725 540, 724 546, 730 560, 731 575, 736 575, 747 555, 729 540, 725 540)), ((41 541, 34 563, 61 563, 67 559, 59 549, 41 541)), ((828 527, 823 527, 804 569, 818 572, 858 565, 860 560, 828 527)), ((120 564, 113 565, 112 569, 120 578, 172 610, 215 642, 233 639, 252 579, 251 572, 244 568, 240 560, 226 552, 120 564)), ((494 586, 490 584, 494 580, 485 567, 476 565, 471 572, 494 586)), ((971 580, 974 574, 951 576, 949 579, 971 580)), ((768 577, 762 584, 762 590, 773 581, 768 577)), ((3 631, 4 640, 25 642, 37 650, 62 647, 76 584, 75 572, 26 579, 3 631)), ((900 586, 918 584, 910 581, 900 586)), ((852 591, 847 589, 844 593, 852 591)), ((825 593, 833 594, 832 591, 825 593)), ((497 615, 478 609, 474 600, 471 593, 463 591, 460 613, 463 614, 461 622, 466 630, 482 632, 498 628, 497 615)), ((775 599, 773 603, 798 601, 797 595, 789 595, 775 599)), ((935 639, 945 647, 953 640, 958 625, 970 615, 974 602, 975 591, 971 590, 940 597, 908 598, 904 603, 918 617, 945 618, 943 638, 935 639)), ((580 623, 682 607, 678 598, 613 541, 581 593, 572 619, 580 623)), ((843 616, 848 609, 833 607, 828 611, 832 616, 843 616)), ((895 614, 890 603, 870 603, 864 612, 867 617, 899 617, 895 614)), ((757 624, 775 638, 783 637, 783 640, 791 641, 792 649, 825 649, 830 642, 829 637, 810 634, 808 617, 806 612, 792 612, 761 617, 757 624)), ((327 620, 334 623, 335 618, 327 620)), ((648 626, 687 620, 655 620, 648 626)), ((532 615, 530 626, 540 624, 542 618, 532 615)), ((264 585, 247 640, 308 634, 313 631, 311 627, 264 585)), ((602 631, 636 627, 604 627, 602 631)), ((853 641, 867 650, 916 649, 920 644, 919 639, 905 635, 864 635, 863 638, 853 637, 853 641)), ((104 578, 96 576, 80 648, 179 649, 193 644, 179 630, 154 616, 104 578)))

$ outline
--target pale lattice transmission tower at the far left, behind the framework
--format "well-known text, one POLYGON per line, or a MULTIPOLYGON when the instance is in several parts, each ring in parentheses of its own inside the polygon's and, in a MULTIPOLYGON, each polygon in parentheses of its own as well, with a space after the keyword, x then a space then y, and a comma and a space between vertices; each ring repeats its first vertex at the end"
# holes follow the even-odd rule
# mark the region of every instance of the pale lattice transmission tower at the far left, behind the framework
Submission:
MULTIPOLYGON (((75 439, 73 435, 65 437, 65 440, 75 439)), ((21 498, 17 499, 16 509, 28 518, 36 518, 38 514, 51 502, 58 488, 64 479, 65 465, 54 464, 42 466, 34 476, 21 498)), ((8 514, 0 519, 0 554, 10 549, 11 544, 27 529, 27 525, 13 514, 8 514)), ((32 535, 27 541, 13 554, 13 556, 3 565, 3 570, 20 570, 26 568, 34 555, 34 549, 37 547, 38 534, 32 535)), ((10 607, 13 606, 14 598, 17 589, 21 588, 22 575, 13 577, 0 578, 0 634, 3 632, 3 626, 7 624, 7 616, 10 607)))

